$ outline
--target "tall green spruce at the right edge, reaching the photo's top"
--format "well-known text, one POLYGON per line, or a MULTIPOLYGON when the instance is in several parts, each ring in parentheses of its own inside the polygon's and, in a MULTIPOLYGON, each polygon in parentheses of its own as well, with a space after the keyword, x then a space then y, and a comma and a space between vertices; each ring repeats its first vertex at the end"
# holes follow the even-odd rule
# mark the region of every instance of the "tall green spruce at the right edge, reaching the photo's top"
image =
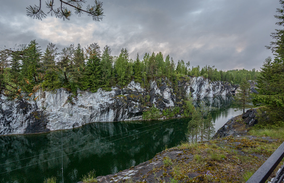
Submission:
POLYGON ((257 79, 258 94, 253 94, 254 104, 264 104, 269 113, 268 121, 271 124, 283 124, 284 121, 284 1, 279 0, 281 8, 277 8, 277 15, 274 17, 279 20, 276 25, 282 29, 275 29, 271 34, 274 39, 270 42, 270 49, 274 55, 274 60, 266 58, 260 77, 257 79))

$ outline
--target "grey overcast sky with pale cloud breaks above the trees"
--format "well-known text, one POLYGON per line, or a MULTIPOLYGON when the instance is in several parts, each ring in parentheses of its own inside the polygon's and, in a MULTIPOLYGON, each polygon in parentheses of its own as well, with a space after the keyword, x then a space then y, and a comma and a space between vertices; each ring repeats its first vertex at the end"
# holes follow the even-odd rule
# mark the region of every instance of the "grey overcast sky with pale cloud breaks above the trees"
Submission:
POLYGON ((26 16, 26 7, 39 0, 2 1, 0 47, 36 39, 44 51, 49 42, 59 50, 70 44, 87 47, 96 42, 101 50, 110 46, 112 55, 126 48, 133 59, 137 52, 142 60, 146 52, 161 51, 164 58, 169 54, 175 62, 190 61, 191 66, 259 70, 264 59, 272 56, 265 46, 272 41, 270 33, 279 29, 274 15, 281 8, 278 0, 102 2, 105 16, 94 22, 86 14, 74 14, 69 21, 51 16, 40 21, 26 16))

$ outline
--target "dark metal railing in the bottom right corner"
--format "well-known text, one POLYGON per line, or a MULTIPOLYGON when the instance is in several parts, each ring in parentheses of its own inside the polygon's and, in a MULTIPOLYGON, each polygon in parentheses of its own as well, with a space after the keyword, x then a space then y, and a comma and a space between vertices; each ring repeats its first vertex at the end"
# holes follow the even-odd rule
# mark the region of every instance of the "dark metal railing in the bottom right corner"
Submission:
MULTIPOLYGON (((246 183, 264 183, 272 174, 284 157, 284 142, 273 152, 273 154, 261 165, 261 167, 247 180, 246 183)), ((280 183, 284 178, 284 166, 276 174, 272 183, 280 183)))

